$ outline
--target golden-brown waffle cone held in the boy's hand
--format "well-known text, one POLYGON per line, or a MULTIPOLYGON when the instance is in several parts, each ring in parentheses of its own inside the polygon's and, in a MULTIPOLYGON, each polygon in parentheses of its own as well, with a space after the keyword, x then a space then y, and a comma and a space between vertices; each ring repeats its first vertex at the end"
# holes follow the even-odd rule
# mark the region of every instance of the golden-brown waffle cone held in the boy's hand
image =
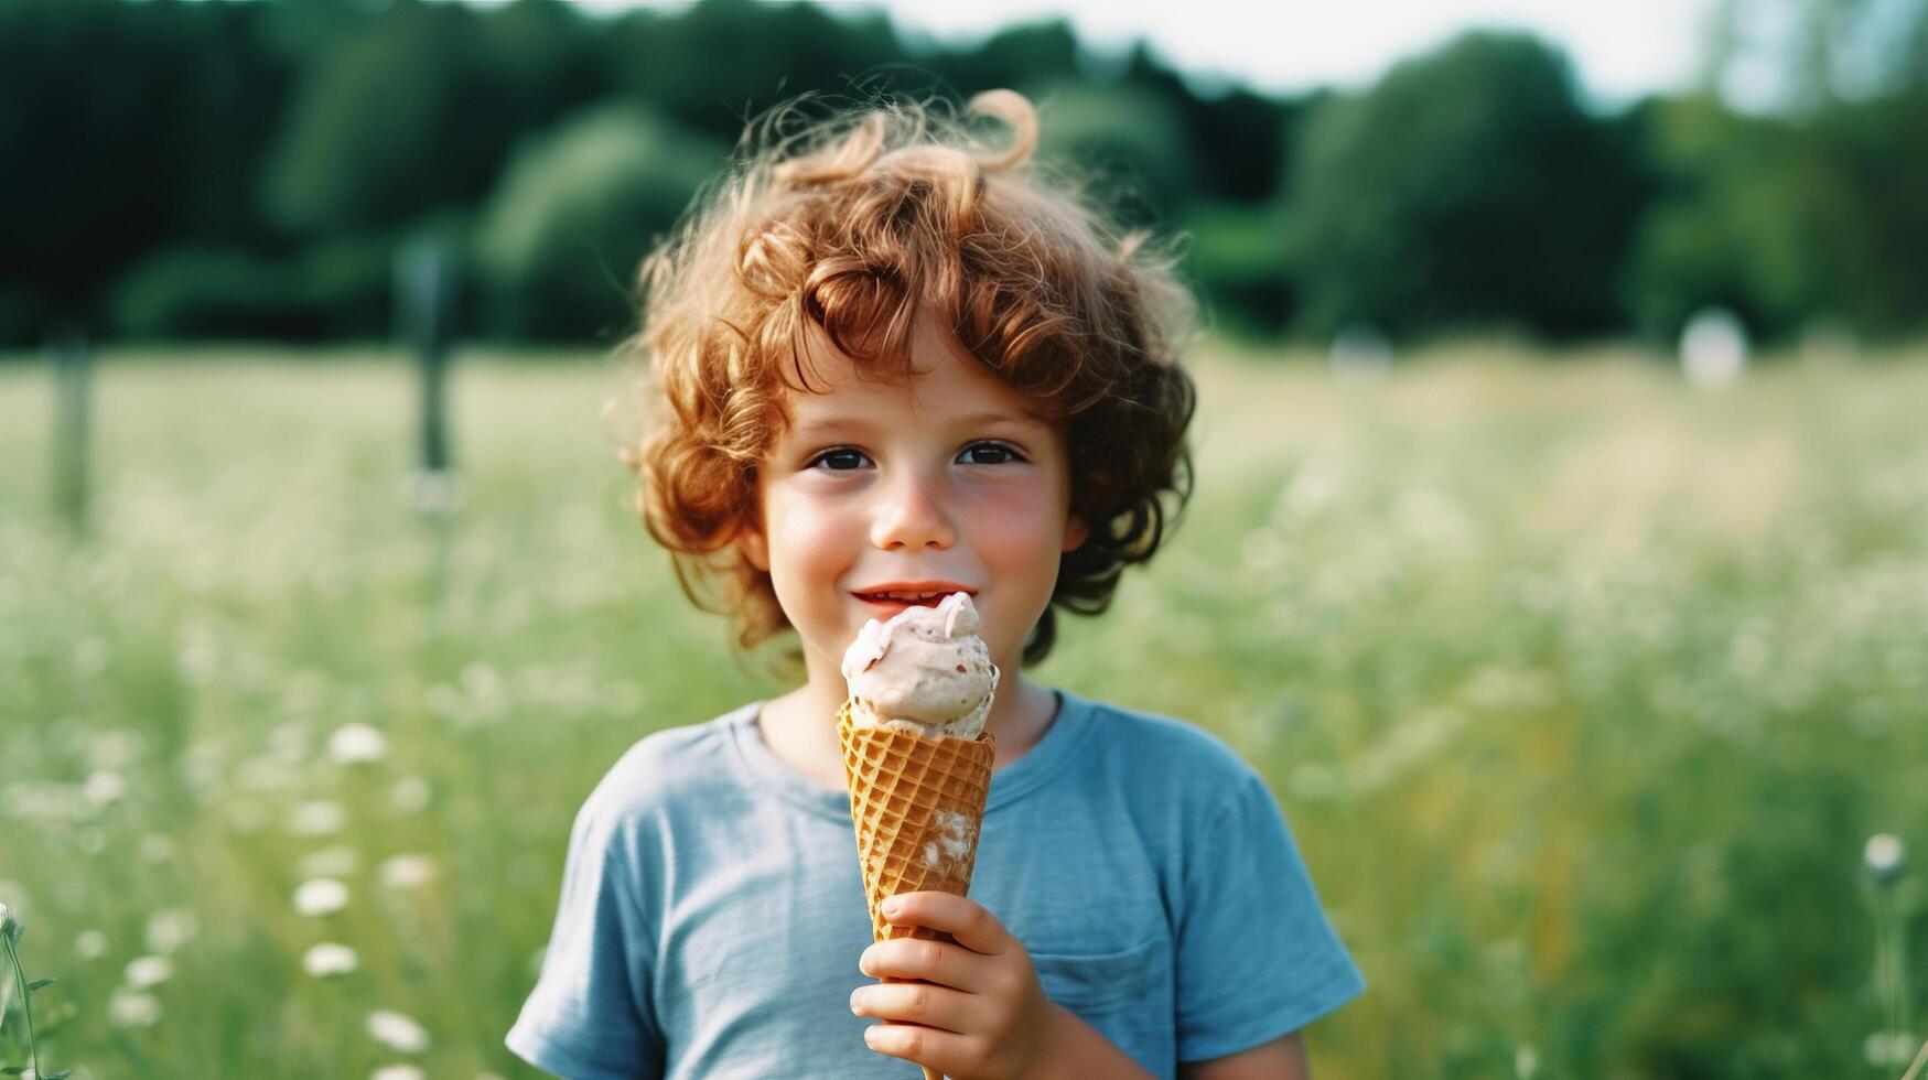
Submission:
MULTIPOLYGON (((968 893, 983 800, 991 793, 991 735, 931 739, 864 727, 850 721, 844 702, 837 710, 837 742, 850 785, 850 824, 856 825, 871 939, 951 941, 949 933, 924 926, 891 926, 883 901, 898 893, 968 893)), ((924 1078, 941 1080, 931 1068, 924 1078)))

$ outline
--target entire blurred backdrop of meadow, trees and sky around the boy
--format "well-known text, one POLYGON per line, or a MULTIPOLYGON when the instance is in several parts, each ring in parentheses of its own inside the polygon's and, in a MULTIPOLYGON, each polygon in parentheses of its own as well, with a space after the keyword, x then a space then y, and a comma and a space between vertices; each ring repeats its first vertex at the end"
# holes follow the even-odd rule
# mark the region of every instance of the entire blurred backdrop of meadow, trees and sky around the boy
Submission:
POLYGON ((1920 1066, 1928 0, 1272 8, 0 0, 0 1066, 530 1076, 582 796, 785 688, 630 509, 634 268, 989 87, 1205 316, 1037 675, 1272 783, 1315 1072, 1920 1066))

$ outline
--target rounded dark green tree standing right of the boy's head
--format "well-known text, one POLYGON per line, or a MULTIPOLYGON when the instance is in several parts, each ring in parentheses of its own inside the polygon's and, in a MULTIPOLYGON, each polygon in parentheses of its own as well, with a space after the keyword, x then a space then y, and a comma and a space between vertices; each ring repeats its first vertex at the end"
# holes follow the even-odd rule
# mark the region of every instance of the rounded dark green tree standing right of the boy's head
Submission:
POLYGON ((1610 330, 1643 202, 1625 135, 1575 100, 1564 56, 1471 33, 1328 98, 1296 147, 1286 255, 1301 326, 1610 330))

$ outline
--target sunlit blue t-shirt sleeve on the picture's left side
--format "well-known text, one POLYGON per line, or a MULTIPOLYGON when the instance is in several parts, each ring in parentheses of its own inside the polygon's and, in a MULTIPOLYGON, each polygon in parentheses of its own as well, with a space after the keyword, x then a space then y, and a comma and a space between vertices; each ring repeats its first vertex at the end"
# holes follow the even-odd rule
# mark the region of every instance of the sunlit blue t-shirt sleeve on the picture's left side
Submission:
POLYGON ((563 895, 536 989, 503 1043, 569 1080, 663 1074, 663 1038, 650 1001, 656 930, 636 887, 636 827, 615 812, 609 785, 576 814, 563 895))

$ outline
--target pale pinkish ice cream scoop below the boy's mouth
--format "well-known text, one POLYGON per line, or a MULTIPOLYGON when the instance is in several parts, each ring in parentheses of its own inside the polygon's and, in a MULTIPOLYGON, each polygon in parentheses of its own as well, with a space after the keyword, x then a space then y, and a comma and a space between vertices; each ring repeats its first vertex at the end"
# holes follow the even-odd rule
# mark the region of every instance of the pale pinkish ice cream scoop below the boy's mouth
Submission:
POLYGON ((864 623, 843 658, 850 721, 976 739, 991 716, 997 665, 968 592, 864 623))

